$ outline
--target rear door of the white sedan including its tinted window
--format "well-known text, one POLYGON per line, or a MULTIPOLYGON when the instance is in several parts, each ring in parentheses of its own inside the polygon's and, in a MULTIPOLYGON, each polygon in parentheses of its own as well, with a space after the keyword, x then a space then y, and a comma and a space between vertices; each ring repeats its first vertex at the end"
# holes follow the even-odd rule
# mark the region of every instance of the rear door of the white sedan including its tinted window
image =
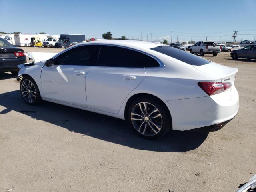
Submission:
POLYGON ((95 66, 86 76, 88 108, 118 113, 125 98, 142 82, 145 66, 159 66, 136 50, 102 45, 95 66))

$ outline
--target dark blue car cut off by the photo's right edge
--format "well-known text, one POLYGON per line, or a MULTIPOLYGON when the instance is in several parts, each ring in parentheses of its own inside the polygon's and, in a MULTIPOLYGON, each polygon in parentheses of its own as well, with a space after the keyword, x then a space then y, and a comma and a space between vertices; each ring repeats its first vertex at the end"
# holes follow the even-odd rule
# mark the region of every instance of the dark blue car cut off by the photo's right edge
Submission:
POLYGON ((245 58, 248 60, 256 59, 256 45, 249 45, 242 49, 234 50, 230 53, 233 59, 245 58))

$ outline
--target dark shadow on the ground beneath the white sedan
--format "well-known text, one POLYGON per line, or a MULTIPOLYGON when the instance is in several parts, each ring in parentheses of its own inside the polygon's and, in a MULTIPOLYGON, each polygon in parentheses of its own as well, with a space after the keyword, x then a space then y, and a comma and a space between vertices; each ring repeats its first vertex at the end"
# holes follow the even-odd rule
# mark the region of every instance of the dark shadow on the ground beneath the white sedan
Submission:
POLYGON ((124 120, 51 102, 30 106, 23 101, 19 90, 0 94, 0 105, 6 108, 0 111, 0 115, 13 110, 80 133, 81 136, 87 135, 139 150, 186 152, 198 148, 208 136, 208 133, 170 131, 160 139, 146 140, 138 136, 124 120))

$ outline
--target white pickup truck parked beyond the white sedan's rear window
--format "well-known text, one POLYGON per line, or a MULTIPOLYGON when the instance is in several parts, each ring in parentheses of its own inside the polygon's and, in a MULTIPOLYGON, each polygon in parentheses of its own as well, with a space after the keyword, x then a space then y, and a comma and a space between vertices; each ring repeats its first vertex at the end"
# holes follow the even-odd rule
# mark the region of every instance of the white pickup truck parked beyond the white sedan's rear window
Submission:
POLYGON ((210 41, 199 41, 194 46, 190 47, 190 53, 200 53, 200 56, 204 56, 204 54, 212 54, 213 56, 217 56, 220 51, 221 46, 210 41))

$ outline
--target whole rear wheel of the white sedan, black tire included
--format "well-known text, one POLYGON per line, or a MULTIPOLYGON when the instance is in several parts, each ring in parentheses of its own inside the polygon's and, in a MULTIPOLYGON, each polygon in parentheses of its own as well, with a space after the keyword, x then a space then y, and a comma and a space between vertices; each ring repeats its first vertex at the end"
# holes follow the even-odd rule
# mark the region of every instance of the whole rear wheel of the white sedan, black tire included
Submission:
POLYGON ((164 134, 166 134, 172 126, 172 120, 168 108, 162 101, 153 96, 139 97, 132 101, 127 108, 126 120, 128 120, 130 126, 140 136, 146 139, 160 138, 164 136, 164 134), (139 107, 139 104, 143 102, 146 103, 147 112, 151 118, 150 116, 146 116, 146 110, 143 104, 141 104, 141 108, 139 107), (138 110, 136 111, 136 109, 138 110), (140 113, 141 110, 143 110, 143 113, 140 113), (152 113, 156 110, 157 112, 152 113), (142 116, 144 117, 134 114, 143 114, 142 116), (143 119, 132 120, 132 118, 136 117, 143 119), (139 127, 141 127, 141 129, 139 127))

